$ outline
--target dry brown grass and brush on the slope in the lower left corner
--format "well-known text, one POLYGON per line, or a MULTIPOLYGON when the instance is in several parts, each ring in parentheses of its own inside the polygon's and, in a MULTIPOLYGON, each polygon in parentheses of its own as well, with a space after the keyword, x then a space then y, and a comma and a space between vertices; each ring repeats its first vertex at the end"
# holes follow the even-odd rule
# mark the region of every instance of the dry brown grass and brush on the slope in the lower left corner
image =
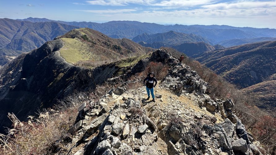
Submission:
MULTIPOLYGON (((75 93, 61 101, 53 109, 39 113, 29 122, 22 122, 0 136, 0 154, 53 154, 57 150, 66 152, 70 145, 64 139, 72 139, 68 133, 78 114, 80 104, 88 100, 84 93, 75 93)), ((69 140, 70 141, 70 140, 69 140)))

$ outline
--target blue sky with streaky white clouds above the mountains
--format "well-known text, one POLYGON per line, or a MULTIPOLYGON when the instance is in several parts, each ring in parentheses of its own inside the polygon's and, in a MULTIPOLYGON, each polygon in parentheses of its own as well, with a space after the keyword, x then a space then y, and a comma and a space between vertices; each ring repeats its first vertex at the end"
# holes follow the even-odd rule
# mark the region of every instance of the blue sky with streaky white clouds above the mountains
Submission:
POLYGON ((276 28, 276 0, 1 0, 0 18, 276 28))

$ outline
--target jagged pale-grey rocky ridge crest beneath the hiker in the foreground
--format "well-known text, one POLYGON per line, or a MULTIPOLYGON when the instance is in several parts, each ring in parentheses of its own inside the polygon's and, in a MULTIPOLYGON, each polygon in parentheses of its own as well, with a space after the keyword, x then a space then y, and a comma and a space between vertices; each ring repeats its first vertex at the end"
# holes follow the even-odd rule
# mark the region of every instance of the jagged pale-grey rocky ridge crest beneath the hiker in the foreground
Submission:
POLYGON ((155 51, 137 65, 151 60, 170 66, 156 86, 156 102, 145 99, 145 87, 127 90, 121 86, 107 91, 98 101, 83 103, 75 125, 68 130, 73 138, 66 153, 261 154, 260 143, 233 114, 231 99, 211 98, 206 91, 208 83, 165 50, 155 51))

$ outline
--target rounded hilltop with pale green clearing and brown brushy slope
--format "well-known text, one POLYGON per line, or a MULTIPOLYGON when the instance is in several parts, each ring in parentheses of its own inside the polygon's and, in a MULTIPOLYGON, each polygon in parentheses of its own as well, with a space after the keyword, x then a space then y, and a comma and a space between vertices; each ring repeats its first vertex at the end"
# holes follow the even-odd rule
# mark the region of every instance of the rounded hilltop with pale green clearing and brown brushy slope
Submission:
POLYGON ((92 29, 73 29, 59 37, 64 42, 60 55, 71 64, 96 66, 153 51, 129 39, 113 39, 92 29))

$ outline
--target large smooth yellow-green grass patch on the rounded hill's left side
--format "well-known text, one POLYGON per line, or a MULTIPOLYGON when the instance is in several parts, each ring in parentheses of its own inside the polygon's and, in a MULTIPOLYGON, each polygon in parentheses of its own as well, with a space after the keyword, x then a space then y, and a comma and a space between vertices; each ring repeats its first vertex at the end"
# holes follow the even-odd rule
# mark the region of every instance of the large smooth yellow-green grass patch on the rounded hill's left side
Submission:
POLYGON ((60 49, 60 56, 67 62, 75 64, 78 61, 89 60, 87 45, 74 38, 60 38, 64 42, 64 47, 60 49))

